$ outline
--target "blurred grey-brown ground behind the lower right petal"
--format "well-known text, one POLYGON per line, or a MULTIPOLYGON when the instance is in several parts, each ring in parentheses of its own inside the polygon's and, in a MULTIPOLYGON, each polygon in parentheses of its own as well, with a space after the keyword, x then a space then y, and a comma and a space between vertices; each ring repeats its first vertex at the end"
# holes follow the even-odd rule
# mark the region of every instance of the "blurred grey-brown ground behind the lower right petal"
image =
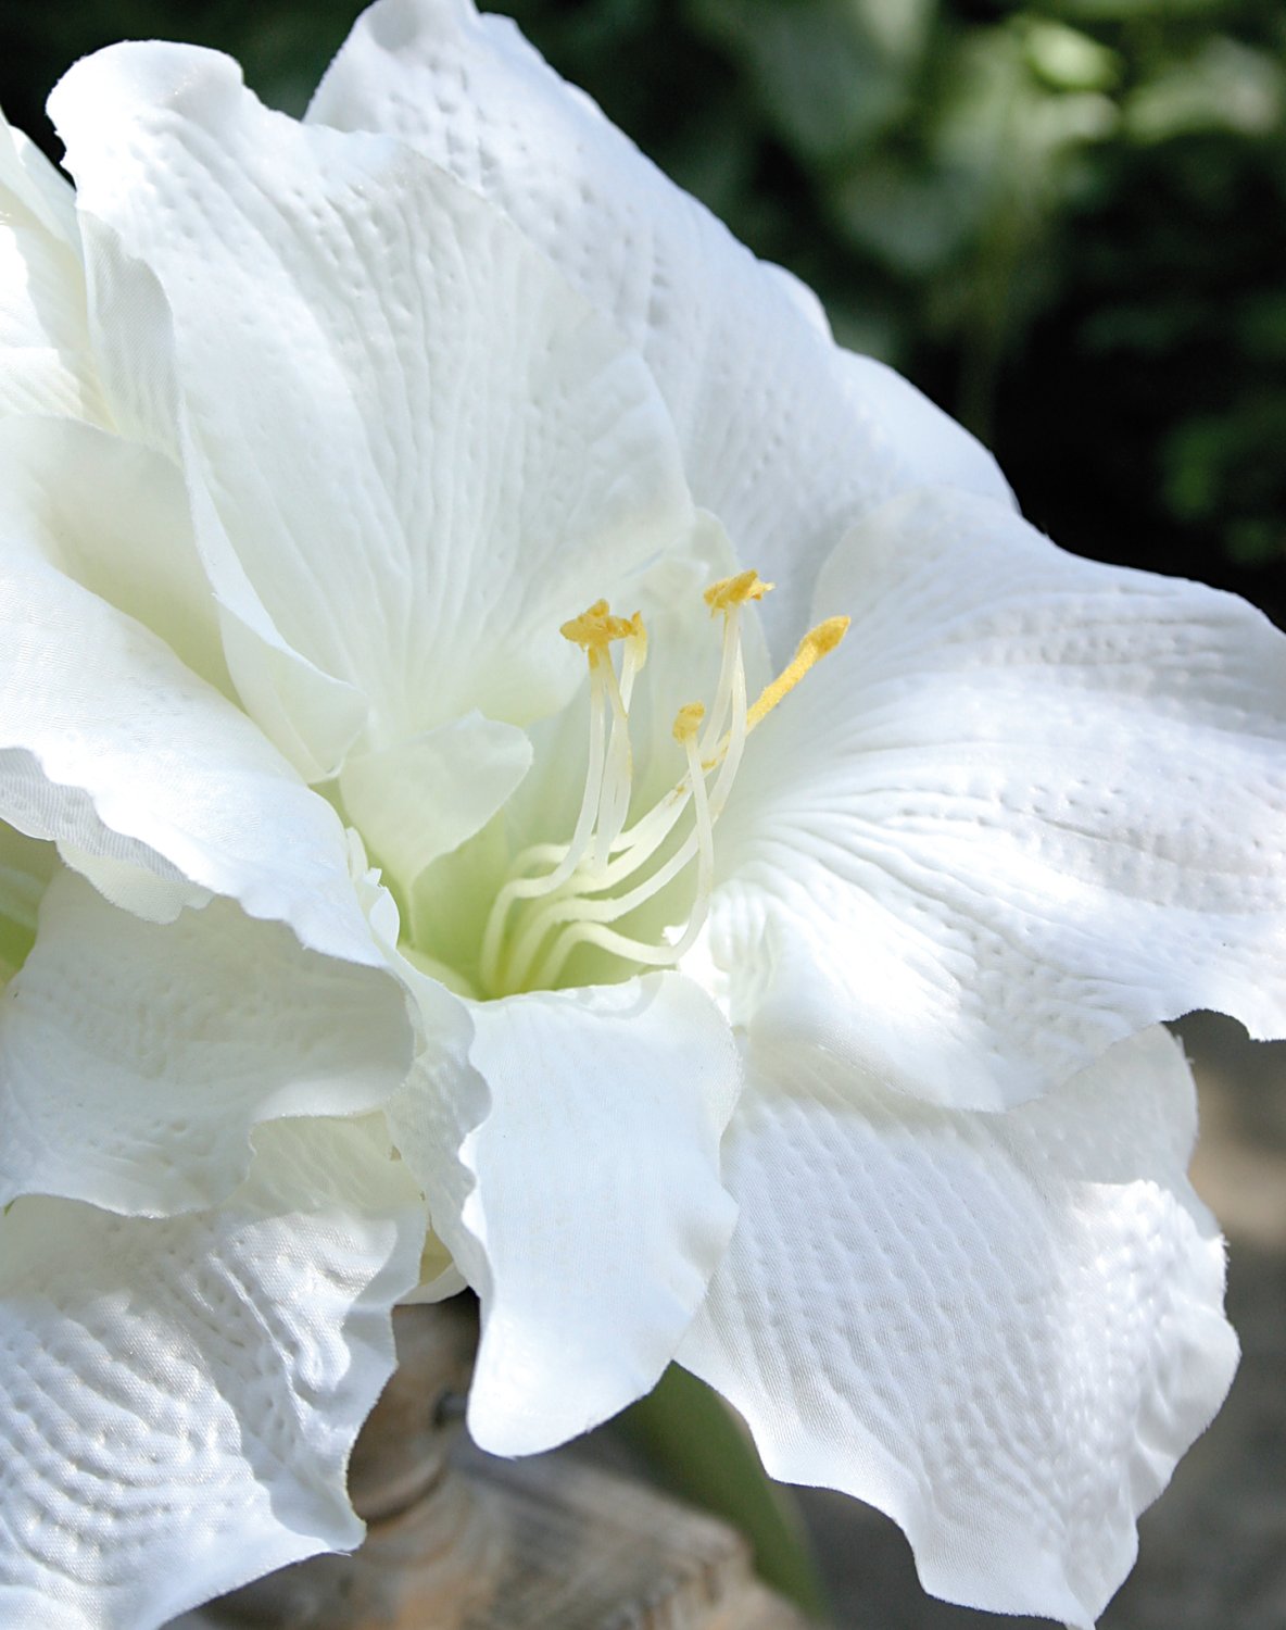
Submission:
MULTIPOLYGON (((1242 1364, 1227 1403, 1144 1514, 1100 1630, 1286 1630, 1286 1043, 1200 1014, 1180 1027, 1201 1097, 1193 1183, 1229 1240, 1242 1364)), ((923 1594, 900 1531, 802 1491, 838 1630, 1048 1630, 923 1594)))

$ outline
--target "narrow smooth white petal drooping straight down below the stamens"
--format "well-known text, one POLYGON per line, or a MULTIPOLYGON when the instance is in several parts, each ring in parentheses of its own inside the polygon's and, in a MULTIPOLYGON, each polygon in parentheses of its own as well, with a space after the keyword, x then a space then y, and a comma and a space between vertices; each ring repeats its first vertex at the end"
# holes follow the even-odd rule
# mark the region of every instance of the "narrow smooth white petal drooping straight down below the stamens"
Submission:
POLYGON ((740 1074, 673 973, 471 1011, 469 1068, 425 1071, 391 1123, 482 1301, 469 1431, 533 1454, 673 1358, 732 1232, 719 1139, 740 1074))

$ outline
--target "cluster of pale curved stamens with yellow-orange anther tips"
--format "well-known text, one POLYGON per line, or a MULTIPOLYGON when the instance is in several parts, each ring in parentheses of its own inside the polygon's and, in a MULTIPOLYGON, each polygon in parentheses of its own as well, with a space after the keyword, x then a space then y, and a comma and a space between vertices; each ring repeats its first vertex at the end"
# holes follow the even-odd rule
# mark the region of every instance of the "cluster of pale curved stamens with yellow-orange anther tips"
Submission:
POLYGON ((642 616, 613 616, 598 600, 562 624, 562 636, 585 652, 590 670, 588 768, 570 843, 538 843, 515 856, 482 932, 479 983, 487 996, 551 989, 580 945, 597 947, 632 967, 670 967, 696 942, 714 888, 714 826, 742 763, 746 737, 848 632, 846 616, 810 629, 787 667, 746 704, 742 608, 773 585, 753 572, 706 590, 722 616, 724 649, 709 711, 688 703, 673 735, 686 769, 680 781, 631 825, 634 755, 629 704, 647 660, 642 616), (619 668, 616 652, 619 649, 619 668), (689 822, 680 838, 683 823, 689 822), (670 939, 649 942, 613 924, 696 866, 694 903, 670 939))

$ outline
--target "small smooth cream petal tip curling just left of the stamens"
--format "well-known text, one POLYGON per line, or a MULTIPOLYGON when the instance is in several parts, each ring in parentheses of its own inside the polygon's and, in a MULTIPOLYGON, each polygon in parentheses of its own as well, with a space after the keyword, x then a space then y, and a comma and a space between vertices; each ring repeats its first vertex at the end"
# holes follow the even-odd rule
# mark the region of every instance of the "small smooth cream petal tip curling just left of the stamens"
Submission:
POLYGON ((350 755, 344 808, 391 875, 411 888, 507 802, 531 766, 515 725, 473 712, 375 753, 350 755))

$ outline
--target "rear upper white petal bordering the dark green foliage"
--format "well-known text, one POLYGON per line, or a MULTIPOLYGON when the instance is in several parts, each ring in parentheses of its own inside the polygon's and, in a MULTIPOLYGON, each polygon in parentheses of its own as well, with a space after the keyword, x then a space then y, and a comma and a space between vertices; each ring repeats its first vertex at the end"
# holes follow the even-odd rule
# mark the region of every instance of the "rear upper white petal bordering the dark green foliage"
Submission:
POLYGON ((755 259, 566 85, 509 18, 469 0, 365 11, 308 117, 399 135, 522 230, 645 355, 698 504, 779 582, 769 632, 800 632, 843 528, 909 482, 1009 489, 913 386, 830 339, 817 300, 755 259))

